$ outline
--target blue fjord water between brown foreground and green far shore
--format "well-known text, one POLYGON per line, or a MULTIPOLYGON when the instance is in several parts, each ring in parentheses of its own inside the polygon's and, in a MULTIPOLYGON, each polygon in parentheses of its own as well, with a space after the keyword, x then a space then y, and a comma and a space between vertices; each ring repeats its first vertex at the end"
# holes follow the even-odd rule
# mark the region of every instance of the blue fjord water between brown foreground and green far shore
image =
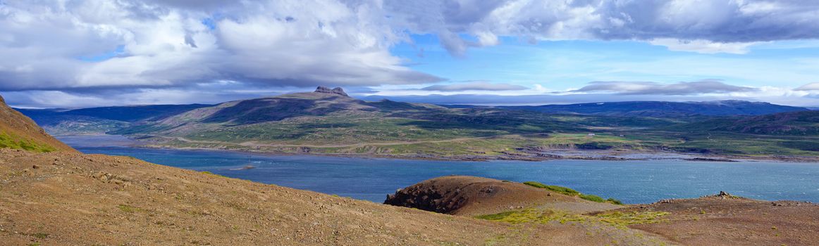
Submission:
POLYGON ((387 194, 432 177, 469 175, 540 181, 627 204, 695 198, 720 190, 765 200, 819 202, 819 163, 773 161, 430 161, 313 155, 247 154, 215 150, 124 147, 119 136, 59 137, 86 154, 126 155, 177 168, 382 203, 387 194), (111 146, 120 145, 120 146, 111 146), (243 169, 247 165, 255 168, 243 169))

